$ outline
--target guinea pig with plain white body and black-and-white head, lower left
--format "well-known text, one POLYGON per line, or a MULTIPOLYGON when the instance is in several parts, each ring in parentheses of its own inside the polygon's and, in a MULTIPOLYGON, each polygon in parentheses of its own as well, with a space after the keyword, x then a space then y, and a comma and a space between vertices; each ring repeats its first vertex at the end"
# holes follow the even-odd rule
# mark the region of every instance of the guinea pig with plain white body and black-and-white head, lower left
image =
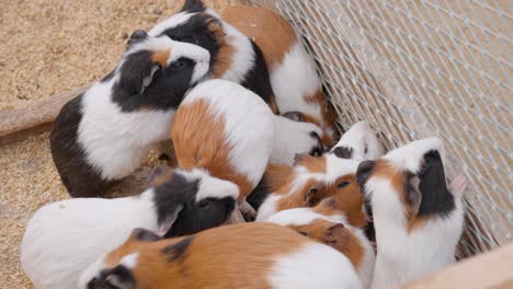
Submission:
POLYGON ((21 244, 21 265, 36 288, 76 288, 80 274, 105 252, 145 228, 163 236, 224 223, 239 188, 202 170, 158 169, 140 196, 73 198, 38 209, 21 244))

